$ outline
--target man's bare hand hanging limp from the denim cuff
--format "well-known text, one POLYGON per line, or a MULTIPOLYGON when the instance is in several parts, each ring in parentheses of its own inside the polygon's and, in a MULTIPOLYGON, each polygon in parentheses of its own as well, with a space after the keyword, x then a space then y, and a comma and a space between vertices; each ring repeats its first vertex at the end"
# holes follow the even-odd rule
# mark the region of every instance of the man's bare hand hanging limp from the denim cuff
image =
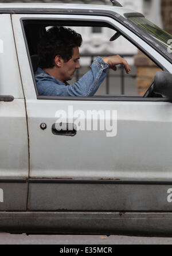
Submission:
POLYGON ((126 60, 124 60, 119 55, 103 57, 102 59, 104 60, 105 63, 107 63, 110 66, 110 68, 112 68, 114 70, 117 69, 116 65, 123 64, 126 69, 127 74, 131 71, 130 65, 127 63, 126 60))

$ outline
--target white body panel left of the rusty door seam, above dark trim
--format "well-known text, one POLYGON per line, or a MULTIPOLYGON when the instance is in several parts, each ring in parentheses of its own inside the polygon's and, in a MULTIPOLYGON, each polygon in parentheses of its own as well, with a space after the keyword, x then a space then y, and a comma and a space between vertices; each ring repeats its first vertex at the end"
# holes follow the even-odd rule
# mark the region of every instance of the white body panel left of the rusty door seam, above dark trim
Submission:
POLYGON ((0 177, 21 179, 29 176, 28 128, 24 99, 0 102, 0 177))

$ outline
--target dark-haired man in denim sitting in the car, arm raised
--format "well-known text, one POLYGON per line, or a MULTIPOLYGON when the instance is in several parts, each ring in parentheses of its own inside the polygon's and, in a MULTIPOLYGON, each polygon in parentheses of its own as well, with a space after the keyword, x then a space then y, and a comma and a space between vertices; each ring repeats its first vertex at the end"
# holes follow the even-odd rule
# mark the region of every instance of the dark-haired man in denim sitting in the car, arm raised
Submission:
POLYGON ((38 69, 36 82, 39 95, 47 96, 93 96, 103 82, 108 68, 116 70, 123 64, 130 72, 127 61, 120 56, 96 57, 91 70, 75 84, 69 85, 77 68, 80 68, 79 47, 82 37, 74 30, 64 27, 50 28, 38 45, 38 69))

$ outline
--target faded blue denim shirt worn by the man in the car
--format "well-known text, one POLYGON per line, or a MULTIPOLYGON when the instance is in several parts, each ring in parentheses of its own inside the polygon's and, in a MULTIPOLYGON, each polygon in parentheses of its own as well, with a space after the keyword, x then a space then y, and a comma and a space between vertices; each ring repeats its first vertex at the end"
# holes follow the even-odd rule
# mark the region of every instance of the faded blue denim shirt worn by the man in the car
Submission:
POLYGON ((91 70, 72 85, 60 82, 41 68, 36 72, 36 83, 39 95, 46 96, 93 96, 103 82, 109 66, 101 57, 96 57, 91 70))

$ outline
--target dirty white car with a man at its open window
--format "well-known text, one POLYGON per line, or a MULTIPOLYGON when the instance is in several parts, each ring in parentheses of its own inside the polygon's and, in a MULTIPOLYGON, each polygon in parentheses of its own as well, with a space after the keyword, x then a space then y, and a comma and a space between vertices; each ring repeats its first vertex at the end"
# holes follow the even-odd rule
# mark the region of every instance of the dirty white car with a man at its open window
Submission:
POLYGON ((0 13, 0 231, 172 235, 172 36, 118 5, 1 3, 0 13), (39 96, 40 31, 59 25, 111 28, 163 72, 144 96, 39 96), (57 131, 60 110, 116 122, 57 131))

